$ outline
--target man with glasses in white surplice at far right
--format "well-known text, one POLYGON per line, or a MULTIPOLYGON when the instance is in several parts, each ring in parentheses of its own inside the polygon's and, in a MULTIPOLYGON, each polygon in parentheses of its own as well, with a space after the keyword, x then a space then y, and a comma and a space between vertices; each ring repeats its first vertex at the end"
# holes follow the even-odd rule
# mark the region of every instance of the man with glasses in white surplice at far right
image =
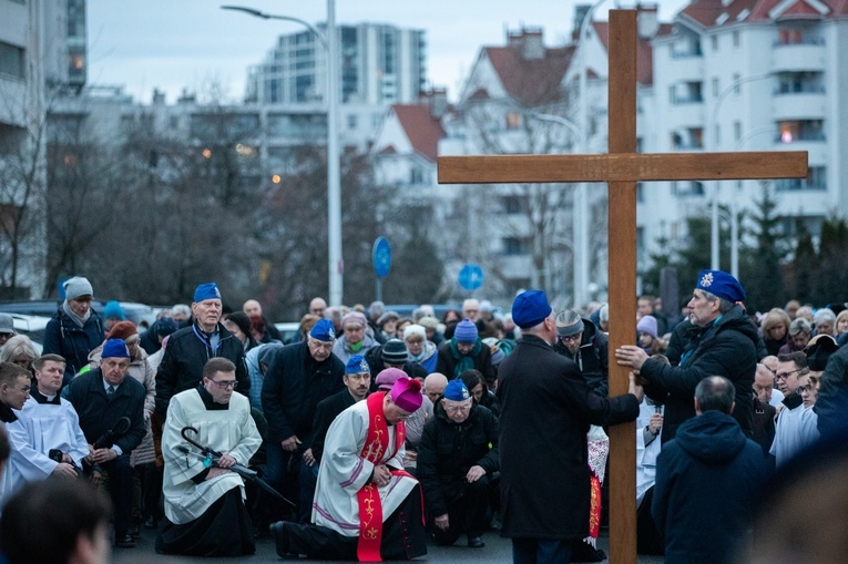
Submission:
POLYGON ((777 356, 777 386, 784 392, 784 409, 777 416, 775 440, 769 453, 781 466, 805 447, 815 442, 818 434, 818 418, 804 404, 799 388, 809 384, 807 355, 800 351, 777 356))

